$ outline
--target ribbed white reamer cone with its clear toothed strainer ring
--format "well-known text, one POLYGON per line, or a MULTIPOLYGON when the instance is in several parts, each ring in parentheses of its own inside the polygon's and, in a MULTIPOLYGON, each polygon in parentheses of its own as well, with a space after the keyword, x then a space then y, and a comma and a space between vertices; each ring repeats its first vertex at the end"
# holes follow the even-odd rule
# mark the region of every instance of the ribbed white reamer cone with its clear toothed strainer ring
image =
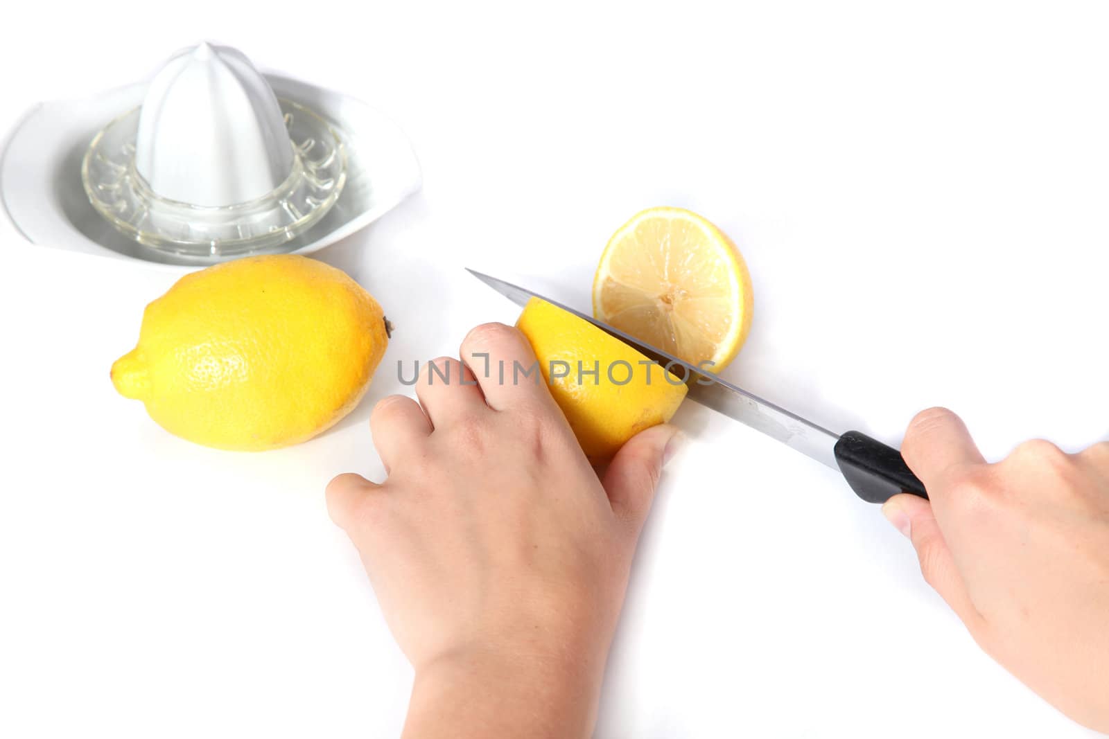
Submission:
POLYGON ((317 223, 343 192, 346 154, 324 119, 277 99, 245 55, 202 43, 96 134, 81 181, 136 242, 230 257, 279 250, 317 223))

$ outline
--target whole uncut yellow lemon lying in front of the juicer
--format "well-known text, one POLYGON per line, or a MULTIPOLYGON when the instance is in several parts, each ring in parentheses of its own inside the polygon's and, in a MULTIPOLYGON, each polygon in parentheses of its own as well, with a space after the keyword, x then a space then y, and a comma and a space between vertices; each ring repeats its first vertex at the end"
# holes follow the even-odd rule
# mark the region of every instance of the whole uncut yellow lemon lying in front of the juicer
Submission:
POLYGON ((354 409, 387 343, 381 307, 342 270, 247 257, 186 275, 146 306, 112 382, 183 439, 276 449, 354 409))

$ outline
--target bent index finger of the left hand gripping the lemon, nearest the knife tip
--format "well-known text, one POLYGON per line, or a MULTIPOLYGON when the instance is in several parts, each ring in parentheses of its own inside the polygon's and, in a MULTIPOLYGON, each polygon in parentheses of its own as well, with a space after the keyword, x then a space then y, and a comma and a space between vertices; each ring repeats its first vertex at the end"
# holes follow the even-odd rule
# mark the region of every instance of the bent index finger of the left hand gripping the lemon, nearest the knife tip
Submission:
POLYGON ((462 339, 459 353, 474 370, 486 402, 494 410, 554 404, 536 352, 527 338, 511 326, 478 326, 462 339))

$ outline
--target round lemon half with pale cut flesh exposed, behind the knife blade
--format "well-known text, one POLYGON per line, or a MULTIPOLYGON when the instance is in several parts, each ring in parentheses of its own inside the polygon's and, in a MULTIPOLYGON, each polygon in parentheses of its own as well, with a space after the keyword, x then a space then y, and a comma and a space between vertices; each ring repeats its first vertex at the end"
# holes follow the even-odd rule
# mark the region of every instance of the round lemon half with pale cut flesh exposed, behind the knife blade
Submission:
POLYGON ((682 208, 649 208, 612 235, 593 278, 593 316, 719 372, 751 330, 751 275, 719 228, 682 208))

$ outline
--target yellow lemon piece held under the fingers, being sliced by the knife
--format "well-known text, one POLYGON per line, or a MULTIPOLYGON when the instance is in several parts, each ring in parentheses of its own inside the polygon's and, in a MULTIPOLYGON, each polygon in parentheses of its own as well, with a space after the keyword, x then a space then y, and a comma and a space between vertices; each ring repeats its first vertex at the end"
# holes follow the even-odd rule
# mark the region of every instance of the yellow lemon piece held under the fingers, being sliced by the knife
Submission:
POLYGON ((601 462, 643 429, 665 423, 686 387, 639 350, 546 300, 532 298, 516 327, 586 456, 601 462))

